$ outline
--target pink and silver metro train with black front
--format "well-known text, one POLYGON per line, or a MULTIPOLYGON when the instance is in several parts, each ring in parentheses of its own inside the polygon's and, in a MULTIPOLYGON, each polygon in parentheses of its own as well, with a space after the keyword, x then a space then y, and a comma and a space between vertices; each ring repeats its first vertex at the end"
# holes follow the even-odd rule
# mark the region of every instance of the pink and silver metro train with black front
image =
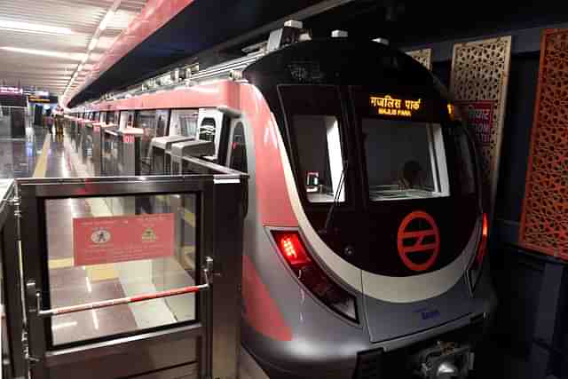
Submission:
POLYGON ((203 159, 248 173, 241 340, 268 376, 469 375, 496 304, 479 157, 420 63, 310 39, 86 111, 208 140, 203 159))

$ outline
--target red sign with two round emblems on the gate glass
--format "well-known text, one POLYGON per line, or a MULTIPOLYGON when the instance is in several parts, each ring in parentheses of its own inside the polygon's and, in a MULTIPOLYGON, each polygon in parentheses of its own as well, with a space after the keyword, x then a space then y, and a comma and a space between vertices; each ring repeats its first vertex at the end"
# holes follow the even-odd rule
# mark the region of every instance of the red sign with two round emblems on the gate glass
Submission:
POLYGON ((73 219, 75 265, 171 257, 174 214, 73 219))

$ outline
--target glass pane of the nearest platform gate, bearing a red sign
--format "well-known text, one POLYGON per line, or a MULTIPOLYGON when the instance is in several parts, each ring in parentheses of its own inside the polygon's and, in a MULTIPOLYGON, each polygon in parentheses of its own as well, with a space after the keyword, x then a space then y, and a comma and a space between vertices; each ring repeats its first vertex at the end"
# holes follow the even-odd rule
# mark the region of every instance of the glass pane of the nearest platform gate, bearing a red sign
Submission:
MULTIPOLYGON (((193 194, 57 199, 45 207, 50 288, 43 296, 52 308, 196 284, 193 194)), ((52 343, 195 319, 193 294, 116 305, 52 318, 52 343)))

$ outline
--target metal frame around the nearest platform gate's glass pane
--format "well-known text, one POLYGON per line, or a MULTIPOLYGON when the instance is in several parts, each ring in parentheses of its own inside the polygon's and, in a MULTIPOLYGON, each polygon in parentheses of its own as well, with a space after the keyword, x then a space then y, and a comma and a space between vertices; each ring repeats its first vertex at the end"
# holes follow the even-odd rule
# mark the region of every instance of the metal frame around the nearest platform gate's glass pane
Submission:
MULTIPOLYGON (((26 282, 25 308, 28 316, 28 346, 24 350, 27 351, 30 377, 67 379, 84 374, 85 378, 135 378, 138 375, 146 377, 145 373, 152 372, 159 373, 160 378, 173 379, 182 376, 181 372, 183 377, 236 378, 240 346, 242 226, 245 209, 242 188, 246 186, 246 180, 247 176, 238 171, 221 175, 178 177, 19 180, 20 227, 26 231, 26 238, 21 241, 23 280, 26 282), (50 309, 45 201, 165 193, 196 195, 199 241, 196 246, 196 262, 204 263, 206 257, 213 261, 212 267, 208 268, 210 283, 199 280, 198 275, 195 278, 196 284, 207 290, 207 296, 197 295, 196 321, 150 331, 140 330, 127 336, 105 337, 95 342, 74 343, 72 347, 49 346, 48 334, 51 334, 51 313, 54 310, 50 309), (41 303, 37 301, 38 293, 43 294, 41 303), (167 346, 177 343, 179 347, 179 343, 184 341, 187 341, 187 351, 184 351, 188 357, 187 362, 184 365, 173 362, 175 364, 169 367, 167 346), (155 358, 162 359, 162 366, 138 372, 139 359, 130 362, 128 359, 139 354, 140 350, 157 354, 155 358), (120 367, 108 364, 113 359, 122 363, 117 365, 120 367), (125 369, 130 369, 130 372, 125 372, 125 369), (114 370, 118 370, 116 372, 119 374, 115 374, 114 370)), ((197 272, 196 267, 196 274, 197 272)), ((155 295, 146 294, 148 298, 155 295)), ((124 298, 120 300, 125 301, 124 298)), ((139 298, 137 301, 140 300, 144 301, 139 298)))

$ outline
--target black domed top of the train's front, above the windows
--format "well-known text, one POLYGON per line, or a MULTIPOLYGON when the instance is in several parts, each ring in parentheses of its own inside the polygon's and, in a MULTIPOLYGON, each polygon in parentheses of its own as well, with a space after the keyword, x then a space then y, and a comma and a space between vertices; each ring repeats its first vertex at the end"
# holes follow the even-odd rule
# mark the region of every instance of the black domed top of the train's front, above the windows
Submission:
POLYGON ((402 51, 367 40, 329 38, 293 43, 257 59, 243 72, 259 87, 286 84, 368 85, 386 91, 446 98, 422 64, 402 51))

